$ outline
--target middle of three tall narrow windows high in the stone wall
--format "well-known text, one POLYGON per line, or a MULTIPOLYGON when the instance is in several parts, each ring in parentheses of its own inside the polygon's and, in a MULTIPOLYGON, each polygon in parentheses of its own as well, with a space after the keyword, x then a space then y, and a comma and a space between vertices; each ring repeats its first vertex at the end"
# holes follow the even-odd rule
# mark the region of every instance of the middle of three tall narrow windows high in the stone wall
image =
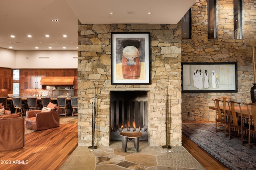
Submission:
POLYGON ((208 38, 216 38, 216 0, 207 0, 208 5, 208 38))

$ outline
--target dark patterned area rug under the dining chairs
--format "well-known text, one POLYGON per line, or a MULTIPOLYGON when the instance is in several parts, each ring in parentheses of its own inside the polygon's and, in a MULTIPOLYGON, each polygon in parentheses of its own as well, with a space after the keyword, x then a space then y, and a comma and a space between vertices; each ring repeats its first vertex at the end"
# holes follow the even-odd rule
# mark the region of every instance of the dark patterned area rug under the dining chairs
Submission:
POLYGON ((248 143, 216 134, 214 123, 182 123, 182 133, 231 170, 256 169, 256 147, 249 150, 248 143))

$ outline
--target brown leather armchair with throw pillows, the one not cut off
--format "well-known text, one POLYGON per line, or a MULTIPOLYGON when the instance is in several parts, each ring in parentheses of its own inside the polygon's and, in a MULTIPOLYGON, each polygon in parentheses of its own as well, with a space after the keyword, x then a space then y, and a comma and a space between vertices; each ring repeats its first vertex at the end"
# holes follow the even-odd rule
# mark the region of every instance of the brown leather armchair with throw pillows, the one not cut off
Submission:
POLYGON ((26 111, 26 128, 38 131, 59 126, 59 107, 50 112, 42 112, 42 110, 26 111))

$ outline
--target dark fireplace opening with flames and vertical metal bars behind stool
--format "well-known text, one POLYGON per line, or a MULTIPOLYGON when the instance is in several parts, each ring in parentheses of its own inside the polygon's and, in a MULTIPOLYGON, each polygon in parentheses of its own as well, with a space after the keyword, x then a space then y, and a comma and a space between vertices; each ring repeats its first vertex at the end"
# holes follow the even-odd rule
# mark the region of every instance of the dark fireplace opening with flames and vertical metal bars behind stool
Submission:
POLYGON ((120 132, 142 132, 148 140, 147 91, 112 91, 110 93, 110 139, 122 140, 120 132))

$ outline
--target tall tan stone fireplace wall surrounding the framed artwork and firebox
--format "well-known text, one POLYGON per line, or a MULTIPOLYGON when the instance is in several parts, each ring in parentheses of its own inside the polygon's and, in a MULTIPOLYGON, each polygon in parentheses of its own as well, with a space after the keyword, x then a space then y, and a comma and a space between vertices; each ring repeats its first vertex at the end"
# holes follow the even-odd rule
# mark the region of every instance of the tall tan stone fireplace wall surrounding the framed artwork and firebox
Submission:
MULTIPOLYGON (((166 143, 168 97, 168 145, 181 146, 181 26, 179 24, 79 24, 78 25, 78 145, 92 145, 92 113, 96 97, 94 145, 109 146, 111 131, 127 120, 147 128, 151 146, 166 143), (111 84, 111 32, 150 32, 151 83, 111 84), (168 89, 168 90, 167 90, 168 89), (166 91, 168 94, 166 95, 166 91), (120 94, 124 94, 118 99, 120 94), (127 104, 127 94, 137 94, 127 104), (113 98, 114 96, 114 98, 113 98), (118 104, 117 104, 118 103, 118 104), (126 104, 125 104, 126 103, 126 104), (124 107, 124 109, 120 109, 124 107), (141 109, 143 108, 143 109, 141 109), (115 111, 113 111, 115 110, 115 111), (136 111, 135 111, 136 110, 136 111), (140 115, 139 112, 146 112, 140 115), (118 112, 118 118, 112 112, 118 112), (122 113, 123 112, 123 113, 122 113), (120 119, 121 115, 121 119, 120 119), (133 116, 132 116, 133 117, 133 116), (124 120, 122 120, 124 119, 124 120), (118 120, 118 121, 117 121, 118 120), (130 120, 129 120, 130 121, 130 120), (118 123, 117 123, 118 122, 118 123)), ((131 125, 130 125, 131 127, 131 125)))

